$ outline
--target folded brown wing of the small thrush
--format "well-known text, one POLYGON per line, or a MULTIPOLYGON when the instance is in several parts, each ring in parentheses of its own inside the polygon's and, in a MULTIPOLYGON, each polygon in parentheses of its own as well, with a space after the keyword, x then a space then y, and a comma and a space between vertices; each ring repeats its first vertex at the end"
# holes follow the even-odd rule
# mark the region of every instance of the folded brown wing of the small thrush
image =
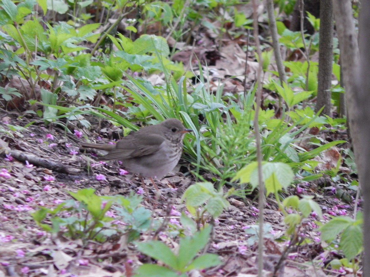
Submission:
POLYGON ((158 134, 134 133, 122 138, 104 160, 125 160, 156 153, 165 138, 158 134))

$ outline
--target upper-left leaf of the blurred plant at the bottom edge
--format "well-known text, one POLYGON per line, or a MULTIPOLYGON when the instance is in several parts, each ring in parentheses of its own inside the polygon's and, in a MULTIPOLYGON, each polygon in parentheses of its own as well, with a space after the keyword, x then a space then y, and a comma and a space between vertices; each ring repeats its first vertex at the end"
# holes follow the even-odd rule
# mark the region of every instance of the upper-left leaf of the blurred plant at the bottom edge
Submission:
POLYGON ((178 268, 178 259, 166 244, 158 241, 138 242, 138 250, 156 260, 164 262, 173 269, 178 268))

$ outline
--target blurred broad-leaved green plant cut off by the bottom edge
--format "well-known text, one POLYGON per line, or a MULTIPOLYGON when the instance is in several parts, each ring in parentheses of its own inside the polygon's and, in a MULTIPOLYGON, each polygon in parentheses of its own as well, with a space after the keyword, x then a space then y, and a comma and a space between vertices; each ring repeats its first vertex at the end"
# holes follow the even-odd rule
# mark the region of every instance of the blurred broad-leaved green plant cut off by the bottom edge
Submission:
POLYGON ((206 226, 193 236, 183 237, 179 241, 178 253, 175 254, 165 243, 158 241, 137 242, 138 250, 156 260, 164 263, 143 264, 137 269, 136 277, 185 277, 186 272, 193 269, 205 269, 221 263, 215 254, 197 253, 208 242, 211 226, 206 226))

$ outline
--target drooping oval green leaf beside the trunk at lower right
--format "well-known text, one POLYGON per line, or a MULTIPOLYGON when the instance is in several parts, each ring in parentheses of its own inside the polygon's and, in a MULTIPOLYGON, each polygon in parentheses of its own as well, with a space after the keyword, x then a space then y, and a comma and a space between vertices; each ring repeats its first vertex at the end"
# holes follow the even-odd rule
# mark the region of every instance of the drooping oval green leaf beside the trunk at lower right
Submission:
POLYGON ((363 233, 359 225, 348 226, 340 237, 339 246, 344 256, 351 260, 360 253, 363 247, 363 233))

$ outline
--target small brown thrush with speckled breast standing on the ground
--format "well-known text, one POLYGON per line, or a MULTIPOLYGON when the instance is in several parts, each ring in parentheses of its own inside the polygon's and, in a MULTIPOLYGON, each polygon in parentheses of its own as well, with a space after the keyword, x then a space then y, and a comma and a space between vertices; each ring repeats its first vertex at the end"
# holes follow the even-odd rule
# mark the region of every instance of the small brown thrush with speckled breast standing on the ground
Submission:
POLYGON ((97 161, 120 160, 126 170, 139 175, 148 196, 142 177, 150 178, 159 191, 153 178, 161 179, 175 168, 182 154, 184 136, 192 131, 180 120, 169 118, 130 132, 116 144, 83 143, 81 146, 108 151, 97 161))

